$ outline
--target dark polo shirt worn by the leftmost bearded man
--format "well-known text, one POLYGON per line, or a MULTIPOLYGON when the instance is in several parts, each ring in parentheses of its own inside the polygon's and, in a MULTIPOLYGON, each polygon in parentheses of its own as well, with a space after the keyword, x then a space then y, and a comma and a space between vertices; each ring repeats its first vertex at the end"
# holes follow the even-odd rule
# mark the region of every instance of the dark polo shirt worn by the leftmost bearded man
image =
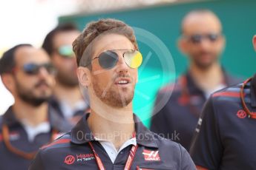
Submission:
POLYGON ((70 127, 65 126, 56 115, 50 114, 49 110, 49 122, 51 130, 47 133, 40 133, 36 135, 33 142, 28 139, 27 132, 19 120, 16 119, 12 107, 0 117, 0 169, 27 169, 32 159, 21 157, 20 155, 13 153, 7 148, 7 143, 4 142, 3 126, 7 126, 9 130, 9 141, 11 146, 19 149, 22 152, 37 152, 37 150, 50 141, 50 137, 57 135, 54 132, 65 132, 70 127), (59 125, 59 126, 58 126, 59 125))

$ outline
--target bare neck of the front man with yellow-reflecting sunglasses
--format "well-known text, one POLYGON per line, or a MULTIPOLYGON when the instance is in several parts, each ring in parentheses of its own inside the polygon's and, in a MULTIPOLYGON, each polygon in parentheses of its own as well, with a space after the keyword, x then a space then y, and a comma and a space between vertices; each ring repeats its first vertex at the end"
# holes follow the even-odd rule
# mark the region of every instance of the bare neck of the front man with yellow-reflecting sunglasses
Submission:
POLYGON ((88 118, 88 126, 95 137, 111 141, 118 150, 135 132, 132 104, 116 109, 101 102, 95 107, 93 103, 91 102, 92 109, 88 118))

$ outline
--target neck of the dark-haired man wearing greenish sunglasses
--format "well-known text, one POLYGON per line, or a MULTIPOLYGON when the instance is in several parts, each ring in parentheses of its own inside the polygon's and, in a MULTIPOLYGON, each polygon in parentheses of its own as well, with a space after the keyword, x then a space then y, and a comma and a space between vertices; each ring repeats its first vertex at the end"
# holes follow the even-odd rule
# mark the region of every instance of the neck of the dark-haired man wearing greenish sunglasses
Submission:
POLYGON ((81 92, 79 91, 79 86, 63 86, 62 84, 56 83, 54 88, 54 95, 58 101, 64 101, 71 108, 73 108, 77 101, 83 100, 81 92))

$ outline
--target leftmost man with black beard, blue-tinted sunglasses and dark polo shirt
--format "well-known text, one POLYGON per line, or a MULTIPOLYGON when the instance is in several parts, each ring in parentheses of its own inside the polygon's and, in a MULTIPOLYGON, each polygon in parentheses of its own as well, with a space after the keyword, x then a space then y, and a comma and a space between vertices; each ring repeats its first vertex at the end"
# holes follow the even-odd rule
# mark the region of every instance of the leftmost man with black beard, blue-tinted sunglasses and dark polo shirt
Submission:
POLYGON ((50 114, 56 70, 42 49, 19 44, 0 59, 0 75, 15 103, 0 117, 0 169, 27 169, 42 145, 66 131, 50 114))

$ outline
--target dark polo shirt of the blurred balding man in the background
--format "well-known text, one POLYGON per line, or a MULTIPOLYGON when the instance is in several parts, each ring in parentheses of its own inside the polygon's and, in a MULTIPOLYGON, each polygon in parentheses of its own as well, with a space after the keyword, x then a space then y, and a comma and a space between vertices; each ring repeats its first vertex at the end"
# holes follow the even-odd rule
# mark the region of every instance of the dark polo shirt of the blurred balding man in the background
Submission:
MULTIPOLYGON (((240 82, 237 78, 223 72, 227 86, 240 82)), ((171 98, 157 114, 151 119, 151 131, 165 138, 180 143, 189 150, 194 129, 200 116, 206 96, 189 72, 182 75, 177 83, 163 87, 157 94, 156 104, 163 99, 166 93, 171 93, 171 98)))

